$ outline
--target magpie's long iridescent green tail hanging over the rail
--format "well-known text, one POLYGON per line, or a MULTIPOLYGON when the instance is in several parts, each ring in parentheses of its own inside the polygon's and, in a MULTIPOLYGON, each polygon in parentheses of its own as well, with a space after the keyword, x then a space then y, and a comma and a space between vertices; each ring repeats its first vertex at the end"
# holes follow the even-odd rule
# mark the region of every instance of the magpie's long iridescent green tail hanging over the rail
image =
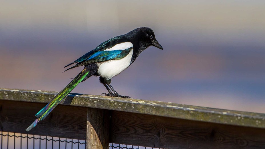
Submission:
POLYGON ((59 94, 57 94, 45 107, 43 107, 35 116, 37 119, 25 130, 29 131, 35 127, 40 120, 45 119, 49 113, 67 96, 87 75, 89 71, 84 69, 79 73, 59 94))

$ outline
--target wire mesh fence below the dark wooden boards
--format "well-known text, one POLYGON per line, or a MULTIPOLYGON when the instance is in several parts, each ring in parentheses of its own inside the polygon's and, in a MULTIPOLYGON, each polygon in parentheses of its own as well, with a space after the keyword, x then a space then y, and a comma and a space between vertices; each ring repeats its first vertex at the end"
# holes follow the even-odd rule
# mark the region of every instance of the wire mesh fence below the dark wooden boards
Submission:
MULTIPOLYGON (((85 149, 85 140, 0 131, 1 149, 85 149)), ((110 143, 110 149, 159 149, 110 143)))

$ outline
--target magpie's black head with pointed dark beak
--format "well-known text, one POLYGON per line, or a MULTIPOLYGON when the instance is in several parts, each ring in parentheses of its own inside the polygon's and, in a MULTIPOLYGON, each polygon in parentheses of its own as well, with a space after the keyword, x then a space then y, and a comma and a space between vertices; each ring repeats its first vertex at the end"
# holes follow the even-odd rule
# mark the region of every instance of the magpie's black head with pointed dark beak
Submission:
POLYGON ((130 37, 133 37, 134 40, 136 40, 142 50, 151 45, 163 50, 162 46, 156 40, 154 31, 149 27, 140 27, 127 34, 130 37))

